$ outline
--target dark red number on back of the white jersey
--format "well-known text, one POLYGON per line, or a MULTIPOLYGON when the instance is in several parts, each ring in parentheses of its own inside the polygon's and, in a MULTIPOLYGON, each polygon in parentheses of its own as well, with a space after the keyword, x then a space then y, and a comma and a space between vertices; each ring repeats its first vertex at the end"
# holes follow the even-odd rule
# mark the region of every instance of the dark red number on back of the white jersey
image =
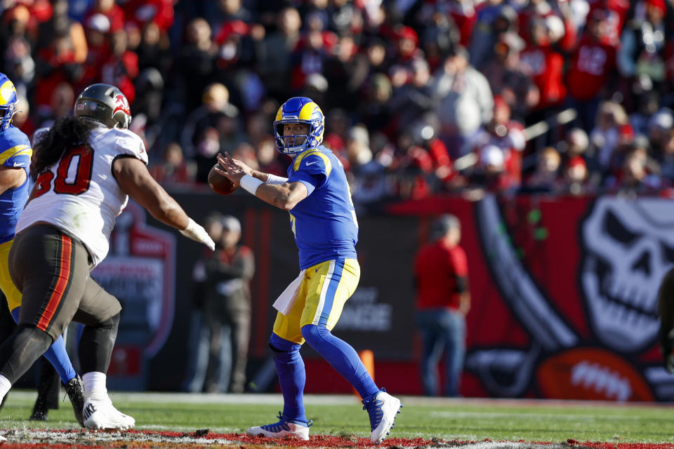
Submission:
POLYGON ((72 147, 68 149, 56 168, 56 177, 51 171, 46 171, 37 177, 35 182, 35 198, 46 194, 54 181, 54 193, 79 195, 89 188, 93 167, 93 152, 86 147, 72 147))

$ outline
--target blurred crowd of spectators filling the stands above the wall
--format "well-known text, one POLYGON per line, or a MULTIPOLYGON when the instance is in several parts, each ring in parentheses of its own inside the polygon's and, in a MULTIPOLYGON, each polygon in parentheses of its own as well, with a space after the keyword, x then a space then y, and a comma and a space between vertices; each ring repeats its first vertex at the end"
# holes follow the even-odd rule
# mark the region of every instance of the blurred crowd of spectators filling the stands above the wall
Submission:
POLYGON ((218 152, 284 175, 306 95, 360 206, 435 192, 669 192, 671 0, 5 0, 25 133, 119 86, 164 185, 218 152))

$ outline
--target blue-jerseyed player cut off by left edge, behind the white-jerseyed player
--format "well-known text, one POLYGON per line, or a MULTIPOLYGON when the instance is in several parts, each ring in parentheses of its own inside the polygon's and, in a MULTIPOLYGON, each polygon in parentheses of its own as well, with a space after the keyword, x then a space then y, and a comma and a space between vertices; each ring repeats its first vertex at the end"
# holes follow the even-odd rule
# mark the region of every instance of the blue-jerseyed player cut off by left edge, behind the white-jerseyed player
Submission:
MULTIPOLYGON (((0 290, 7 297, 12 318, 18 322, 21 293, 9 276, 8 257, 16 222, 28 201, 28 174, 33 149, 27 135, 12 126, 16 101, 14 84, 0 73, 0 290)), ((44 356, 65 384, 77 422, 84 425, 84 387, 72 368, 63 338, 55 340, 44 356)))

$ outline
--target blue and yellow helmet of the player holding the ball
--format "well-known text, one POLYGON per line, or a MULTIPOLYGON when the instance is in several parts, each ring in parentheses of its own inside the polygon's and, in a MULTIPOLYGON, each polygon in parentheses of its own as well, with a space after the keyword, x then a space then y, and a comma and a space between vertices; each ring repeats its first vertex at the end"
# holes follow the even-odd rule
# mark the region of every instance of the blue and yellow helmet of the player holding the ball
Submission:
POLYGON ((276 148, 283 154, 300 154, 301 152, 316 148, 323 142, 325 130, 325 116, 320 107, 307 97, 293 97, 279 107, 274 121, 274 135, 276 148), (283 127, 286 123, 308 123, 308 135, 283 135, 283 127), (304 142, 298 142, 298 138, 304 142))

